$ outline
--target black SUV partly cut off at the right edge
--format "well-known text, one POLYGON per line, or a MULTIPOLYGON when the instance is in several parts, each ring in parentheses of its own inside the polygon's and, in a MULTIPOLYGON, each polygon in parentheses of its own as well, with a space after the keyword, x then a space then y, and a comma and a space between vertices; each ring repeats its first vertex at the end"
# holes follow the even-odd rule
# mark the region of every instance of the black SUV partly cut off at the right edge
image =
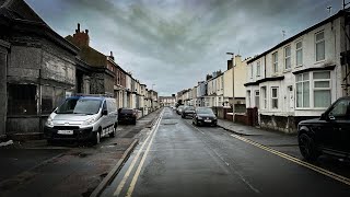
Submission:
POLYGON ((350 97, 337 100, 319 118, 301 121, 298 141, 307 161, 315 161, 320 154, 349 157, 350 97))

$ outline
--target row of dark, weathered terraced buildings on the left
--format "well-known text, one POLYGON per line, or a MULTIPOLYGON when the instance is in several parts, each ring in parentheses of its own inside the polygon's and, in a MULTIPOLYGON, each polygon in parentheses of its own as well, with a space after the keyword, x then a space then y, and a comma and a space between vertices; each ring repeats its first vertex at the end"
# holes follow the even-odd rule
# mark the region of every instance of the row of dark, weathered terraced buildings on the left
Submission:
POLYGON ((90 46, 80 24, 60 36, 23 0, 0 1, 0 137, 38 134, 48 115, 77 94, 114 96, 139 116, 158 108, 158 93, 125 71, 113 53, 90 46))

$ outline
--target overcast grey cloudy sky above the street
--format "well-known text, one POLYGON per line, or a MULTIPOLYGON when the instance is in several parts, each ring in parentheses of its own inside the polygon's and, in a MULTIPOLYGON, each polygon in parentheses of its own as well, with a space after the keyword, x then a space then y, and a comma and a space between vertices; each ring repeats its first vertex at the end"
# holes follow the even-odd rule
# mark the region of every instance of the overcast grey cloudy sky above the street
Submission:
POLYGON ((261 54, 339 11, 342 0, 26 0, 60 35, 77 23, 91 46, 170 95, 225 70, 226 53, 261 54))

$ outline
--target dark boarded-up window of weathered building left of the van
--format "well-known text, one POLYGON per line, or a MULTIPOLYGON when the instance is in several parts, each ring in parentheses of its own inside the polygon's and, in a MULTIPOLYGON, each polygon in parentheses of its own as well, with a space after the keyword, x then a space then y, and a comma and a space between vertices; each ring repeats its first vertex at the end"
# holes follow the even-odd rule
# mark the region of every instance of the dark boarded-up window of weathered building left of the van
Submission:
POLYGON ((8 115, 36 115, 36 85, 9 84, 8 115))

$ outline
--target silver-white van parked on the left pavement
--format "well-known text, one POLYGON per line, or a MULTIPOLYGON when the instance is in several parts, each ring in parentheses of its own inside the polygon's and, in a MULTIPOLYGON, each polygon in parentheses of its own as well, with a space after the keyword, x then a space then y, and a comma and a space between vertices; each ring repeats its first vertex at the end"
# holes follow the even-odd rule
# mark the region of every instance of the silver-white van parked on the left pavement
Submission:
POLYGON ((47 118, 44 135, 48 143, 56 140, 89 140, 116 136, 116 100, 103 96, 71 96, 47 118))

